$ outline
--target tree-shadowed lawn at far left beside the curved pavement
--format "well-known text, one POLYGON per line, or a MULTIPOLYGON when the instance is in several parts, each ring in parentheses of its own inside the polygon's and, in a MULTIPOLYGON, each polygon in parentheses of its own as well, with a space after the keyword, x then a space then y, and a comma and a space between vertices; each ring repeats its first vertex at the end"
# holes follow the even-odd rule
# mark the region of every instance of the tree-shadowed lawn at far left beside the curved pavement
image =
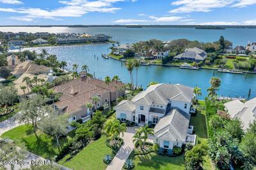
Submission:
MULTIPOLYGON (((13 128, 8 132, 1 135, 2 138, 12 139, 18 146, 25 146, 28 151, 40 155, 41 157, 54 159, 55 155, 58 155, 58 147, 55 140, 41 132, 37 132, 38 139, 32 132, 32 127, 29 125, 21 125, 13 128)), ((67 138, 60 139, 60 144, 63 146, 67 143, 67 138)))

